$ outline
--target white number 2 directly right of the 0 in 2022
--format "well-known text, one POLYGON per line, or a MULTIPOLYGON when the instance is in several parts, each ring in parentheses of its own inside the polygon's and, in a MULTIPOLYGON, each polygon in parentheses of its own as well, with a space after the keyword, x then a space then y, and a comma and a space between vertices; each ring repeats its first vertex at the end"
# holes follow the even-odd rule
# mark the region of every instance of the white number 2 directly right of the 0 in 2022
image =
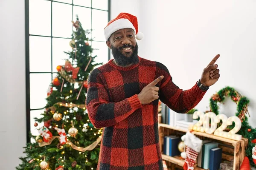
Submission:
POLYGON ((227 132, 223 131, 223 130, 225 130, 227 128, 227 116, 224 115, 224 114, 218 114, 215 117, 214 122, 217 124, 221 120, 222 120, 222 125, 218 129, 215 130, 214 135, 227 138, 227 132))

